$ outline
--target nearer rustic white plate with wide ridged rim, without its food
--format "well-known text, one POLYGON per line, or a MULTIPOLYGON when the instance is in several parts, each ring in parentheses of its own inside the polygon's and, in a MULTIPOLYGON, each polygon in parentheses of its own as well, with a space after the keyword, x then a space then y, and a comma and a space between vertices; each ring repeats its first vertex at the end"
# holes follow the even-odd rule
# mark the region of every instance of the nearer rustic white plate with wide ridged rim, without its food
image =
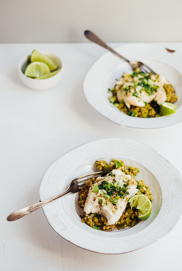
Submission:
POLYGON ((69 193, 42 207, 50 226, 61 237, 87 250, 118 254, 151 244, 166 235, 182 212, 181 176, 167 160, 147 145, 129 139, 112 138, 79 146, 58 158, 45 172, 40 188, 41 201, 66 190, 72 178, 96 170, 94 162, 122 159, 138 167, 137 179, 144 179, 153 192, 152 213, 147 220, 124 230, 104 232, 81 222, 77 194, 69 193))

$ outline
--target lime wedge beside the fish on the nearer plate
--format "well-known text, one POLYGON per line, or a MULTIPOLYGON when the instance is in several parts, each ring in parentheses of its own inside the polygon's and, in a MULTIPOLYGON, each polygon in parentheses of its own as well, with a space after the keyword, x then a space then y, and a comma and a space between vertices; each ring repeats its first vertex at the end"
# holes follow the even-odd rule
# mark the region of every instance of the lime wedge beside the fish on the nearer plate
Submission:
POLYGON ((142 220, 146 220, 150 217, 151 210, 152 210, 152 203, 151 201, 143 194, 134 195, 129 199, 131 209, 135 207, 138 209, 138 218, 142 220))

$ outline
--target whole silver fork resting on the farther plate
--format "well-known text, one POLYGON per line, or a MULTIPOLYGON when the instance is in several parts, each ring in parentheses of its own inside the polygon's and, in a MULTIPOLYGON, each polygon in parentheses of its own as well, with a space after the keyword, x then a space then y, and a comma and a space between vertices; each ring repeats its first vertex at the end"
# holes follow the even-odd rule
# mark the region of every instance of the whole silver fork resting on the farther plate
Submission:
POLYGON ((141 62, 141 61, 133 62, 133 61, 126 59, 122 55, 118 54, 111 47, 109 47, 104 41, 102 41, 99 37, 97 37, 96 34, 94 34, 92 31, 86 30, 84 32, 84 34, 89 41, 92 41, 92 42, 104 47, 105 49, 109 50, 111 53, 116 54, 118 57, 124 59, 126 62, 128 62, 132 66, 133 70, 135 70, 136 68, 140 68, 140 70, 143 71, 144 73, 151 72, 153 74, 156 74, 152 69, 150 69, 150 67, 148 67, 143 62, 141 62))

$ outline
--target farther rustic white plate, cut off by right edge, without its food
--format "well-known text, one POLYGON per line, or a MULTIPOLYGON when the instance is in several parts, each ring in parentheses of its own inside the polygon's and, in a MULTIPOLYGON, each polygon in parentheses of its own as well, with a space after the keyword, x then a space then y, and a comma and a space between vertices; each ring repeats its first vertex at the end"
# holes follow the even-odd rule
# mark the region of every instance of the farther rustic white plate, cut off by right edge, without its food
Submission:
POLYGON ((158 129, 182 122, 182 54, 170 53, 163 47, 149 44, 127 44, 116 49, 118 53, 132 61, 142 61, 159 74, 165 75, 173 85, 179 106, 175 114, 158 118, 134 118, 113 106, 108 98, 108 88, 112 89, 124 71, 131 67, 112 53, 104 54, 89 69, 83 82, 83 91, 89 105, 111 121, 130 128, 158 129))

